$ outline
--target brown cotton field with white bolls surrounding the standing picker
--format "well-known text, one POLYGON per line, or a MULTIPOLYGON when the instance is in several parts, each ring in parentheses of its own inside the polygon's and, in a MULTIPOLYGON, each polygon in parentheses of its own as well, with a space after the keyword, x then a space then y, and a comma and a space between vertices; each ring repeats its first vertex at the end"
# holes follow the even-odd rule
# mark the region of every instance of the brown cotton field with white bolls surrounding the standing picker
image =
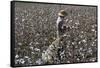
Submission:
POLYGON ((97 61, 97 7, 43 3, 15 3, 15 66, 44 65, 42 53, 57 38, 56 20, 68 13, 67 36, 60 41, 61 59, 53 64, 97 61))

